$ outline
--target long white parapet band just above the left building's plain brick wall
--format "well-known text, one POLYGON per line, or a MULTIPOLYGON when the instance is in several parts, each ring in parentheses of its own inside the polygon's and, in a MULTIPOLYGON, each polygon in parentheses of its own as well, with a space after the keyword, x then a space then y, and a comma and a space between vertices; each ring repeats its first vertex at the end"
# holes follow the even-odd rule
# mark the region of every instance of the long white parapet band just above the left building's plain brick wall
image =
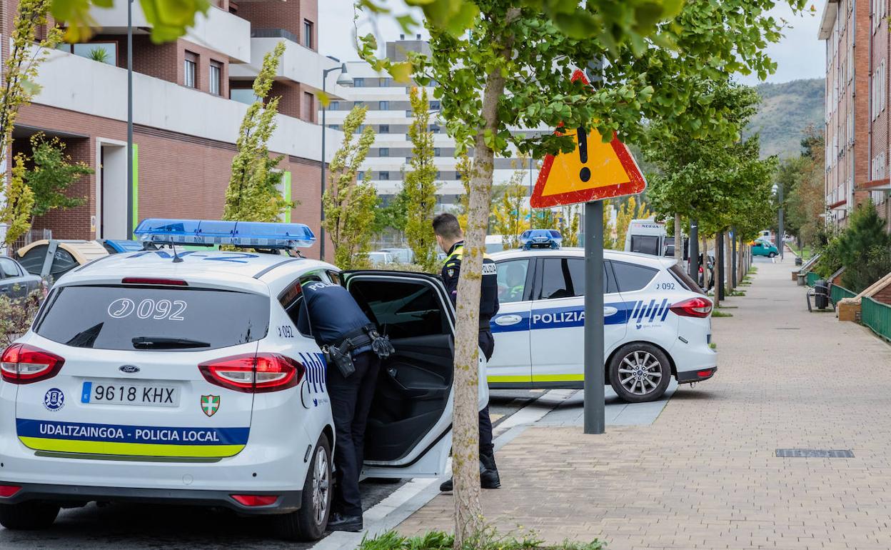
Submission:
MULTIPOLYGON (((33 103, 82 112, 114 120, 127 120, 127 70, 94 62, 72 53, 51 50, 40 67, 42 86, 33 103), (58 86, 64 82, 65 86, 58 86)), ((241 119, 248 110, 242 103, 178 86, 141 73, 133 74, 134 123, 184 135, 234 144, 241 119)), ((321 128, 303 120, 278 115, 269 149, 307 160, 322 154, 321 128), (300 136, 300 139, 294 139, 300 136)), ((94 132, 85 128, 85 133, 94 132)), ((343 133, 327 129, 326 139, 339 144, 343 133)), ((336 147, 327 151, 331 160, 336 147)))

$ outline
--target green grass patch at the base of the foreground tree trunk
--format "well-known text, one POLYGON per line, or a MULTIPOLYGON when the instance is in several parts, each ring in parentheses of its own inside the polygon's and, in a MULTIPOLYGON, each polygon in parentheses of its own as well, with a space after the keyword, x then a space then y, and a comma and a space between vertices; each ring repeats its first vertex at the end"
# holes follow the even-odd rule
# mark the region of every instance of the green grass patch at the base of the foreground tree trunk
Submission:
MULTIPOLYGON (((396 531, 387 531, 380 537, 363 538, 358 550, 452 550, 454 536, 445 531, 430 531, 419 537, 404 537, 396 531)), ((482 540, 463 546, 465 550, 603 550, 606 546, 594 539, 579 543, 564 541, 553 546, 545 545, 534 532, 521 537, 498 535, 494 529, 486 529, 482 540)))

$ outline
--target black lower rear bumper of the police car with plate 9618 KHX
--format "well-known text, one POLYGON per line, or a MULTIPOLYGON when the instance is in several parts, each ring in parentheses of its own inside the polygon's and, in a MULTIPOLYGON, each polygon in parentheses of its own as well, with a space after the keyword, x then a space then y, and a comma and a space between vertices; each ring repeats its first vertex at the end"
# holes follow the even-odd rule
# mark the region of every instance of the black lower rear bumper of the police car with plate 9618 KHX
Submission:
POLYGON ((217 506, 245 514, 290 513, 300 508, 302 491, 251 491, 251 495, 275 495, 271 505, 245 506, 233 499, 237 491, 200 489, 86 487, 82 485, 48 485, 0 481, 0 485, 20 486, 12 497, 0 498, 0 504, 12 505, 29 500, 43 500, 60 504, 88 502, 139 502, 168 505, 217 506))

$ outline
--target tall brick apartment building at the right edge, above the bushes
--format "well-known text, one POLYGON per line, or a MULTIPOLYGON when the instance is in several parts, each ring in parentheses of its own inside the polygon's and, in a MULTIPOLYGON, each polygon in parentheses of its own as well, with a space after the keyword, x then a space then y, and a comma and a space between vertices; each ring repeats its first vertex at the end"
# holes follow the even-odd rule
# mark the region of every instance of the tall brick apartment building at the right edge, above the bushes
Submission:
POLYGON ((823 6, 827 221, 842 226, 868 198, 891 220, 888 15, 888 0, 827 0, 823 6))

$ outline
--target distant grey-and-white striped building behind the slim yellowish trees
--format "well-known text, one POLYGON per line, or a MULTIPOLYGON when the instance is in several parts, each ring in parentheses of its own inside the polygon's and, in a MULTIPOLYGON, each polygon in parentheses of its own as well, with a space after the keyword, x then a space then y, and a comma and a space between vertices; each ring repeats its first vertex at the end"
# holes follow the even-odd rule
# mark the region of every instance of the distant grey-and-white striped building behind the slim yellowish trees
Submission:
MULTIPOLYGON (((429 44, 421 40, 420 35, 414 39, 400 37, 397 41, 388 42, 386 48, 388 58, 394 61, 404 60, 405 52, 409 51, 429 53, 429 44)), ((348 89, 346 100, 329 104, 325 124, 331 129, 340 129, 353 107, 360 105, 368 108, 364 127, 370 125, 377 135, 362 170, 370 173, 378 194, 384 201, 388 201, 402 188, 405 169, 412 159, 408 127, 413 119, 412 106, 409 103, 413 85, 396 83, 388 74, 373 70, 366 62, 347 62, 347 70, 353 77, 353 86, 348 89)), ((437 121, 439 102, 434 97, 434 89, 434 86, 426 87, 431 111, 430 130, 434 133, 434 163, 438 170, 437 210, 444 211, 455 207, 464 188, 457 168, 458 160, 454 157, 454 140, 437 121)), ((539 130, 526 130, 523 133, 532 135, 537 131, 539 130)), ((525 170, 523 182, 529 185, 528 193, 531 193, 538 177, 537 166, 536 162, 519 157, 495 159, 493 181, 495 185, 506 183, 515 172, 525 170)))

